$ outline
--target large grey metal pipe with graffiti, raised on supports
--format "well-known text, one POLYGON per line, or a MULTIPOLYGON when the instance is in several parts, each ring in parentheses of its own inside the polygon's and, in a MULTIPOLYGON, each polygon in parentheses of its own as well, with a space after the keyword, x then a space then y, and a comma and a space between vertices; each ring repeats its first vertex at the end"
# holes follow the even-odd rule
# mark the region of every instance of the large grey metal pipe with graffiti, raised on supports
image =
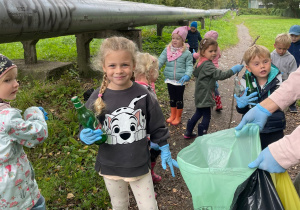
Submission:
POLYGON ((0 43, 223 15, 118 0, 0 0, 0 43))

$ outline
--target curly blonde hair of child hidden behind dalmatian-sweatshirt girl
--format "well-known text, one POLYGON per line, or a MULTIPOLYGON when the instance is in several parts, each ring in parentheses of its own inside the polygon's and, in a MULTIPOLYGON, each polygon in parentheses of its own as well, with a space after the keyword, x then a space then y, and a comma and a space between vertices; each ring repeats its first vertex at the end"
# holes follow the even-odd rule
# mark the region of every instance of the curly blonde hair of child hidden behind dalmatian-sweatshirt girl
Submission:
POLYGON ((137 64, 134 70, 135 78, 145 76, 148 85, 151 85, 152 80, 158 78, 158 59, 157 57, 150 55, 149 53, 137 54, 137 64))

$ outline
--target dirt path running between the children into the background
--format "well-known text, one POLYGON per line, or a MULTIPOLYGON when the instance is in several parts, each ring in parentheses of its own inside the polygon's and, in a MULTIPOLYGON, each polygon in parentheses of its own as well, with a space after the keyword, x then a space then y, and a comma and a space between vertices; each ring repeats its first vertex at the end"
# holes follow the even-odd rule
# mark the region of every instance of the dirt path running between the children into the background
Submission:
MULTIPOLYGON (((222 51, 222 57, 219 60, 219 66, 222 70, 228 70, 232 66, 239 64, 242 60, 242 56, 246 49, 252 44, 253 40, 249 35, 247 27, 244 25, 237 25, 239 43, 225 51, 222 51)), ((239 77, 244 74, 243 70, 239 77)), ((234 88, 234 77, 229 79, 219 81, 219 92, 222 98, 223 110, 221 112, 216 112, 215 107, 212 110, 211 123, 208 130, 208 133, 213 133, 219 130, 228 129, 229 126, 235 127, 241 120, 241 115, 233 110, 232 121, 230 121, 230 115, 232 110, 232 94, 234 88)), ((194 114, 194 81, 189 82, 186 87, 184 95, 184 114, 182 117, 182 123, 178 126, 170 126, 171 138, 169 139, 169 144, 171 145, 171 152, 173 158, 176 158, 178 152, 190 145, 193 140, 186 140, 183 138, 183 133, 186 127, 187 120, 194 114)), ((289 134, 292 130, 295 129, 297 123, 300 122, 299 114, 291 115, 287 113, 287 129, 286 134, 289 134)), ((298 123, 299 124, 299 123, 298 123)), ((197 132, 195 129, 194 131, 197 132)), ((192 197, 191 194, 180 174, 180 171, 176 169, 176 177, 171 176, 170 171, 162 170, 160 166, 160 160, 157 162, 157 167, 155 171, 157 174, 162 176, 162 181, 159 184, 155 185, 155 192, 157 192, 157 203, 160 210, 192 210, 192 197)), ((299 166, 291 167, 289 170, 291 177, 294 178, 297 173, 299 173, 299 166)), ((132 196, 130 199, 131 208, 138 209, 135 205, 135 201, 132 196)))

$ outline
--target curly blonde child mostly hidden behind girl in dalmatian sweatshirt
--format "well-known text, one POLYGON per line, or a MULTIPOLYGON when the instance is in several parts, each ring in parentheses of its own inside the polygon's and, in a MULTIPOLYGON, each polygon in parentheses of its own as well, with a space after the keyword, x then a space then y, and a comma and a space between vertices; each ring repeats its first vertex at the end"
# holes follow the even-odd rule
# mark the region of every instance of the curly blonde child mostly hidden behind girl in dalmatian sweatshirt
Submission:
MULTIPOLYGON (((156 57, 150 55, 149 53, 138 53, 137 54, 137 64, 134 70, 135 82, 143 85, 149 92, 156 97, 155 94, 155 84, 154 82, 158 78, 158 60, 156 57)), ((149 136, 150 139, 150 136, 149 136)), ((151 139, 150 139, 151 140, 151 139)), ((160 150, 156 150, 157 144, 150 141, 152 148, 150 149, 151 154, 151 176, 153 183, 159 183, 161 181, 161 176, 154 173, 154 167, 156 165, 156 159, 160 155, 160 150)))

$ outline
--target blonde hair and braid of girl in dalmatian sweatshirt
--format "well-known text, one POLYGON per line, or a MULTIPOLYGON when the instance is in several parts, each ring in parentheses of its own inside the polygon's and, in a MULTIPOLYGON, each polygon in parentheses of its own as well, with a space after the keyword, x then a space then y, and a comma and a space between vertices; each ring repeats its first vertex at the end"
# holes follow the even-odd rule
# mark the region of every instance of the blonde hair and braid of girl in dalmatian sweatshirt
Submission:
MULTIPOLYGON (((95 70, 100 70, 103 72, 103 65, 105 63, 105 57, 111 52, 111 51, 119 51, 119 50, 126 50, 128 53, 131 54, 133 65, 136 65, 136 54, 138 52, 137 45, 124 37, 111 37, 105 39, 98 51, 98 54, 95 56, 95 58, 92 61, 92 67, 95 70), (99 69, 100 68, 100 69, 99 69)), ((134 81, 134 75, 132 74, 131 80, 134 81)), ((106 73, 103 74, 103 80, 102 84, 99 90, 99 97, 94 103, 94 110, 97 115, 101 114, 103 109, 105 108, 105 103, 102 99, 102 95, 104 94, 107 86, 109 84, 109 81, 107 79, 106 73)))

